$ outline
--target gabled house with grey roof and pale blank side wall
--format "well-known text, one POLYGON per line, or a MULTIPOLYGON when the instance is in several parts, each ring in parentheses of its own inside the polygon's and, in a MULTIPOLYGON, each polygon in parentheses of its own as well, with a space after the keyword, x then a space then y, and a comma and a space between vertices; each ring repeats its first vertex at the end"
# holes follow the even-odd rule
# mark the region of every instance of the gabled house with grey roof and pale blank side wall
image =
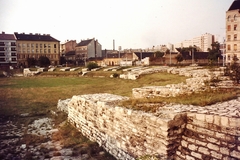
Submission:
POLYGON ((102 46, 98 40, 82 40, 76 45, 76 60, 102 57, 102 46))

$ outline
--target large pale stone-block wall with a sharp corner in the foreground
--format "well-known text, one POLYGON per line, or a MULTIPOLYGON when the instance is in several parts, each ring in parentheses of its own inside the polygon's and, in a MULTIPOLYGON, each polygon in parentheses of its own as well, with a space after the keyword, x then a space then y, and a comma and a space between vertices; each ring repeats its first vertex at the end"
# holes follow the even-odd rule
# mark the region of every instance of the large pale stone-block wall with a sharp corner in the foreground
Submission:
MULTIPOLYGON (((188 74, 194 78, 198 72, 188 74)), ((145 155, 177 160, 240 159, 240 98, 205 107, 154 104, 159 105, 155 113, 118 105, 127 99, 107 93, 79 95, 59 100, 58 108, 68 113, 68 121, 83 135, 116 159, 145 155)))

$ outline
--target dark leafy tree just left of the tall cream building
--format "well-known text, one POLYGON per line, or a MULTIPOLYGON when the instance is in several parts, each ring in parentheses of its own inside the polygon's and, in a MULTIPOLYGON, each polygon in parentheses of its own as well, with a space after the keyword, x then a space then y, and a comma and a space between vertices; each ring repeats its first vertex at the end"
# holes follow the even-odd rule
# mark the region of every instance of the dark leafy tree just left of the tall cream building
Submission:
POLYGON ((210 65, 216 62, 221 55, 219 42, 214 42, 211 46, 212 49, 208 48, 208 61, 210 65))

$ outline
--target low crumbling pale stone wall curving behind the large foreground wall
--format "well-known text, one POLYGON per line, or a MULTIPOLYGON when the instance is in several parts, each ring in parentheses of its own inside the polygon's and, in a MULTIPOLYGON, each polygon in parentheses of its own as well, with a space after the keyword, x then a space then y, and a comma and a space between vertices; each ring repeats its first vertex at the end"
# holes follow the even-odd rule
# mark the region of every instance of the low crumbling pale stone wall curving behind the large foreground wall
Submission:
MULTIPOLYGON (((160 67, 161 68, 161 67, 160 67)), ((233 82, 229 80, 229 77, 224 77, 223 69, 216 71, 210 71, 208 69, 203 69, 202 67, 163 67, 162 70, 159 68, 157 71, 166 71, 171 74, 179 74, 181 76, 189 77, 186 79, 185 83, 179 84, 168 84, 166 86, 145 86, 142 88, 133 88, 132 96, 133 98, 145 98, 145 97, 175 97, 181 94, 191 94, 194 92, 205 91, 206 89, 221 87, 221 82, 215 83, 215 86, 208 86, 207 83, 210 83, 211 80, 215 79, 218 81, 227 81, 224 83, 225 86, 232 86, 233 82)), ((131 74, 132 75, 132 74, 131 74)), ((130 76, 128 76, 130 77, 130 76)))

